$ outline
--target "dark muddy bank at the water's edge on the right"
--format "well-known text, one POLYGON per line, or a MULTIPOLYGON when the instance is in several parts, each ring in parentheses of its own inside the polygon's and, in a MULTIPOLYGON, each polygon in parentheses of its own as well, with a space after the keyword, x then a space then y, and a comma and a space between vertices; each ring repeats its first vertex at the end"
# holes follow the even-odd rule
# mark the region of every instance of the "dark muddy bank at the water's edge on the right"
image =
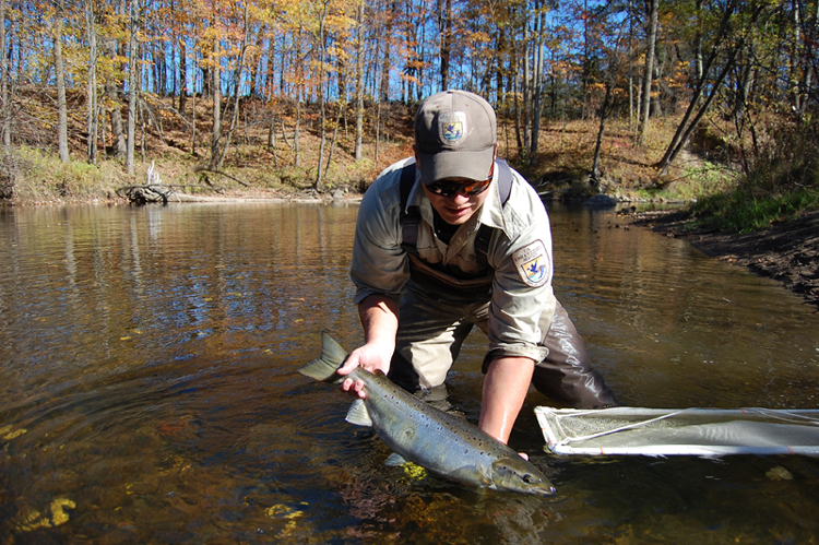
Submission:
POLYGON ((819 311, 819 211, 738 235, 697 230, 685 211, 641 213, 633 225, 684 237, 707 256, 778 280, 819 311))

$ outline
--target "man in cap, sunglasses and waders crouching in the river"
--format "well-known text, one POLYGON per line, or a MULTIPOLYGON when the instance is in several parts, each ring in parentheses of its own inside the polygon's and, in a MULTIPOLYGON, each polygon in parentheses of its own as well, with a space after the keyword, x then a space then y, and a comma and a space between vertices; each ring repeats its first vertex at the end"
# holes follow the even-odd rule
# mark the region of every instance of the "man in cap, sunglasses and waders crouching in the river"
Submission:
MULTIPOLYGON (((413 149, 414 159, 384 170, 361 202, 351 277, 365 344, 339 372, 360 365, 428 391, 476 324, 489 337, 478 427, 499 441, 530 383, 575 407, 616 404, 553 294, 543 202, 496 161, 489 103, 463 91, 429 97, 413 149)), ((346 379, 342 389, 364 398, 363 386, 346 379)))

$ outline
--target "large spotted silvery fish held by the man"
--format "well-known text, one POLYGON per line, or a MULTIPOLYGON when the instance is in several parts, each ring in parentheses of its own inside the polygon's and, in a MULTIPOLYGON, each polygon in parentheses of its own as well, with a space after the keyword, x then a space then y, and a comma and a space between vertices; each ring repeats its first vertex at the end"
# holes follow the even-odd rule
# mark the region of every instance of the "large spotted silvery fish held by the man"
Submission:
POLYGON ((321 356, 299 369, 325 382, 361 380, 366 398, 356 400, 346 420, 371 426, 393 453, 387 465, 413 462, 449 481, 478 488, 547 496, 555 493, 548 478, 507 445, 490 437, 466 418, 428 405, 382 372, 357 367, 349 375, 336 370, 347 352, 327 332, 321 356))

